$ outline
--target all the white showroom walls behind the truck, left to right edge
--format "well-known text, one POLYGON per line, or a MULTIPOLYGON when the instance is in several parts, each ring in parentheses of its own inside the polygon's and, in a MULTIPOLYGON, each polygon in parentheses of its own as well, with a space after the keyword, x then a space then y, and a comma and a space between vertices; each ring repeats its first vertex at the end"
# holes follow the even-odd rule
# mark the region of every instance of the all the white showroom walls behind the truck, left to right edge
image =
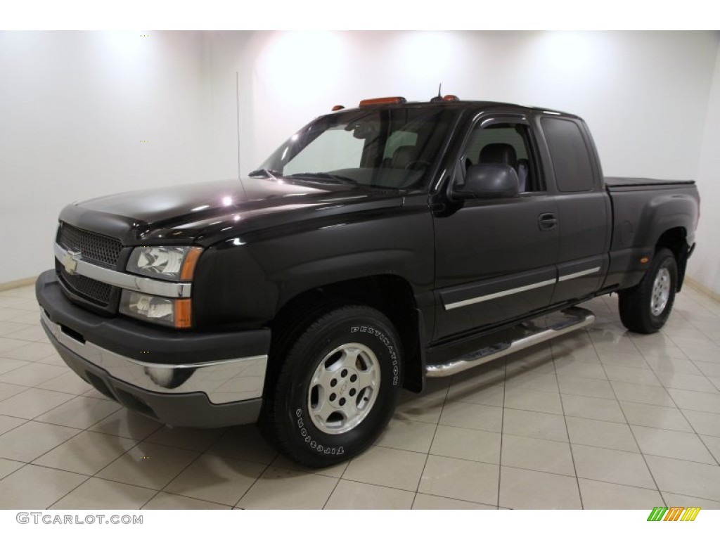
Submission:
MULTIPOLYGON (((720 201, 719 32, 140 33, 0 33, 0 227, 23 223, 27 246, 0 283, 50 266, 66 202, 237 176, 238 104, 243 174, 334 104, 426 100, 442 82, 580 114, 605 174, 699 174, 703 220, 720 201)), ((719 243, 698 240, 690 275, 719 292, 719 243)))

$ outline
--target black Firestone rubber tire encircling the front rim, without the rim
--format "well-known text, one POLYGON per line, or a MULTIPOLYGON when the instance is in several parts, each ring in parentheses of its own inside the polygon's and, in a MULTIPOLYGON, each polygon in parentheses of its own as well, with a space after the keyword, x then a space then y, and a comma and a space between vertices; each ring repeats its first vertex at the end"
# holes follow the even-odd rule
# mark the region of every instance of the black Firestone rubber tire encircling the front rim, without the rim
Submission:
POLYGON ((379 436, 395 410, 402 385, 400 343, 390 321, 379 312, 370 315, 368 311, 338 310, 337 320, 315 335, 302 336, 287 356, 292 368, 287 372, 288 384, 280 385, 287 389, 280 397, 287 416, 279 428, 284 431, 284 440, 292 445, 294 453, 304 456, 304 461, 331 464, 358 454, 379 436), (368 313, 360 315, 362 312, 368 313), (325 433, 310 418, 310 381, 320 361, 346 343, 361 343, 373 351, 380 369, 379 389, 371 410, 357 426, 346 433, 325 433))

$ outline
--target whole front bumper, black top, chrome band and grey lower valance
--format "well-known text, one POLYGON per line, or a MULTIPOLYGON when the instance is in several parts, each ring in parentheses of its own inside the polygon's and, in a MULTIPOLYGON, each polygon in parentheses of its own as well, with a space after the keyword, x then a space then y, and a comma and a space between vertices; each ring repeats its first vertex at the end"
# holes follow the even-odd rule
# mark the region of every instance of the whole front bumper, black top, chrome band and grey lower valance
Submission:
POLYGON ((189 333, 105 318, 73 305, 54 271, 40 275, 35 293, 50 343, 104 395, 174 426, 257 420, 270 330, 189 333))

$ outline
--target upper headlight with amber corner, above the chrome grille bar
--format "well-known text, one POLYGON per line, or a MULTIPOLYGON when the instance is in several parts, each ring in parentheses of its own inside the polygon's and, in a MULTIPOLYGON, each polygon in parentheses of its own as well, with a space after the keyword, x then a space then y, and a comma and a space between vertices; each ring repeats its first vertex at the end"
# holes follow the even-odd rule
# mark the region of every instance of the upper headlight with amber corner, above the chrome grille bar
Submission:
POLYGON ((132 250, 127 271, 157 279, 190 281, 202 248, 143 246, 132 250))

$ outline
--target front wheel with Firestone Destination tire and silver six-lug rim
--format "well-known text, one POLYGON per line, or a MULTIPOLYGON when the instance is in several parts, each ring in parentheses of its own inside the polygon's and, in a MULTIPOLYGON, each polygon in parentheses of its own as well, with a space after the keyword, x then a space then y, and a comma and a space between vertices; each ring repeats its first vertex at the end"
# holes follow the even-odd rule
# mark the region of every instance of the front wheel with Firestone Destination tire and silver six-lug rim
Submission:
POLYGON ((372 307, 331 308, 288 343, 266 388, 260 428, 279 452, 328 467, 370 446, 402 386, 397 330, 372 307))

